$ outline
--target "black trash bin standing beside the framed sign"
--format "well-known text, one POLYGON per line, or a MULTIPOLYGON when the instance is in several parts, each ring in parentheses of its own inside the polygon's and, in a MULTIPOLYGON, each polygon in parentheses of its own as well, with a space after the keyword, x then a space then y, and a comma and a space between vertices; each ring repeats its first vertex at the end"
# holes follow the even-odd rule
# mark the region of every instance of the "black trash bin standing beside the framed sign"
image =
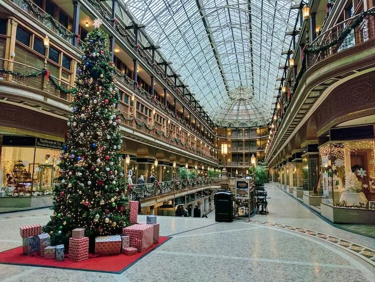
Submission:
POLYGON ((215 221, 233 221, 233 195, 230 191, 217 191, 215 199, 215 221))

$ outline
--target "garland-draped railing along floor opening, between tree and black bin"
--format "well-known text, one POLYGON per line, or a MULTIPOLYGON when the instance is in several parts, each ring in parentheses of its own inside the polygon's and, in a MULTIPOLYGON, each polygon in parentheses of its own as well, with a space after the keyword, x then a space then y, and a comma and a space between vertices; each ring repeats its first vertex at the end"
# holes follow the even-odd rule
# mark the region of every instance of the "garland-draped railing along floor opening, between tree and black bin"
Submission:
MULTIPOLYGON (((185 180, 171 180, 146 184, 130 185, 130 199, 145 199, 162 194, 181 191, 183 189, 199 188, 208 185, 219 185, 220 178, 193 178, 185 180)), ((129 187, 127 186, 127 189, 129 187)))

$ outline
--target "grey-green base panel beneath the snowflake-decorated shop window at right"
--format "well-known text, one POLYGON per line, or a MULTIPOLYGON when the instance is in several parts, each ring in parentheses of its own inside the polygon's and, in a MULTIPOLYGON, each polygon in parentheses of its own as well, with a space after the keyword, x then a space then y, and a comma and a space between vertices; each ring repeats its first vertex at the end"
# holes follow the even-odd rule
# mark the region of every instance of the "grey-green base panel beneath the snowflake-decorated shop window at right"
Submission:
POLYGON ((339 224, 375 224, 375 210, 332 207, 320 204, 321 215, 333 223, 339 224))

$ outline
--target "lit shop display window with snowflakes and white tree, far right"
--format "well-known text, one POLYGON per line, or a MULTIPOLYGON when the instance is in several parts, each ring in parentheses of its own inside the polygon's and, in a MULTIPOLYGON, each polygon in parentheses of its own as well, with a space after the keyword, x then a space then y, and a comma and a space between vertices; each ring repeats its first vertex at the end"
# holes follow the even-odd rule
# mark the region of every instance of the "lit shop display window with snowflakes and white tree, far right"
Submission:
POLYGON ((375 208, 374 140, 319 147, 322 202, 336 207, 375 208))

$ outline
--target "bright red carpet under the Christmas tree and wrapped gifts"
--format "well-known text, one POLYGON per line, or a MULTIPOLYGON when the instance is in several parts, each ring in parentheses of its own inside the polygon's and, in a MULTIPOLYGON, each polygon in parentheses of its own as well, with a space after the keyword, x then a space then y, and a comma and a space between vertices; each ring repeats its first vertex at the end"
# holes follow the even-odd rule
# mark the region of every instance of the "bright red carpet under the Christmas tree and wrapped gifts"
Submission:
POLYGON ((52 259, 44 259, 38 256, 29 256, 22 254, 22 246, 0 252, 0 263, 27 265, 27 266, 42 266, 55 267, 75 270, 99 271, 109 273, 121 273, 134 262, 158 247, 169 237, 159 237, 159 242, 153 244, 144 252, 138 252, 133 255, 111 255, 111 256, 97 256, 90 255, 89 259, 74 262, 65 258, 64 261, 55 261, 52 259))

